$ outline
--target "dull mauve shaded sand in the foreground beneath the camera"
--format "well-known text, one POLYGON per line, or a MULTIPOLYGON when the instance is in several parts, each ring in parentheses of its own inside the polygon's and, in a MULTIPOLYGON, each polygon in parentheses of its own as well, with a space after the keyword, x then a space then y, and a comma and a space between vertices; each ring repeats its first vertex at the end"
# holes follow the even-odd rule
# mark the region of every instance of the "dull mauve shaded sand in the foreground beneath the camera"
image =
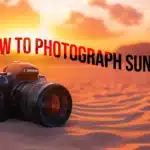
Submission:
MULTIPOLYGON (((122 138, 106 132, 72 135, 67 128, 75 127, 78 121, 69 121, 65 127, 44 128, 39 125, 8 120, 0 124, 0 145, 7 150, 53 150, 53 149, 95 149, 116 147, 122 138), (109 139, 109 142, 108 142, 109 139)), ((77 130, 76 132, 80 132, 77 130)))

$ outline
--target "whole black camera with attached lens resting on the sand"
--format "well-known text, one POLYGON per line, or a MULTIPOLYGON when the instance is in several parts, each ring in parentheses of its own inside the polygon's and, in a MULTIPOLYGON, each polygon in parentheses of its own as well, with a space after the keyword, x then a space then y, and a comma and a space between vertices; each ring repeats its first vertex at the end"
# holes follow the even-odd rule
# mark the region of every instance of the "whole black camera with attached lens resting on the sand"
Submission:
POLYGON ((0 73, 0 122, 17 118, 58 127, 67 122, 71 112, 69 91, 47 82, 33 64, 13 62, 0 73))

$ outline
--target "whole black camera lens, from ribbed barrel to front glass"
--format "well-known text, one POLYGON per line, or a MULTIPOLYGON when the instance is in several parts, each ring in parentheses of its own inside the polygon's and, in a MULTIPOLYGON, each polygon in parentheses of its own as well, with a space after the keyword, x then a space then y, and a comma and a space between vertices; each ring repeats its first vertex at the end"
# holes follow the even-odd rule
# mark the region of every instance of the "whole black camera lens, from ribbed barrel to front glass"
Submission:
POLYGON ((25 120, 48 127, 64 125, 72 111, 69 91, 56 83, 22 82, 13 90, 13 103, 25 120))

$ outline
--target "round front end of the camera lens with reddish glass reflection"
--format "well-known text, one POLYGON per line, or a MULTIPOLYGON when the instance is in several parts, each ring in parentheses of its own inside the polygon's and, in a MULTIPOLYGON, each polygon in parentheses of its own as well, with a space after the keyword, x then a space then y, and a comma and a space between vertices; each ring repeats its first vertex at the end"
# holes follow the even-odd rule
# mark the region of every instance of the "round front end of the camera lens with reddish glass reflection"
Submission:
POLYGON ((60 85, 51 85, 43 89, 39 96, 41 121, 48 126, 61 126, 68 120, 72 99, 69 92, 60 85))

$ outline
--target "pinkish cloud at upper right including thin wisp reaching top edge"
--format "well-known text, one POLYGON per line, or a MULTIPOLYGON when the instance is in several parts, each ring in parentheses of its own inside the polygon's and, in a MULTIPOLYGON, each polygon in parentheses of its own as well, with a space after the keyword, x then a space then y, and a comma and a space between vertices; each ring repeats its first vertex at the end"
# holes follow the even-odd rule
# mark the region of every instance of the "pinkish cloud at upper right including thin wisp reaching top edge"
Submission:
POLYGON ((130 5, 108 4, 106 0, 92 0, 89 5, 107 10, 112 19, 126 26, 138 25, 143 18, 143 14, 130 5))

